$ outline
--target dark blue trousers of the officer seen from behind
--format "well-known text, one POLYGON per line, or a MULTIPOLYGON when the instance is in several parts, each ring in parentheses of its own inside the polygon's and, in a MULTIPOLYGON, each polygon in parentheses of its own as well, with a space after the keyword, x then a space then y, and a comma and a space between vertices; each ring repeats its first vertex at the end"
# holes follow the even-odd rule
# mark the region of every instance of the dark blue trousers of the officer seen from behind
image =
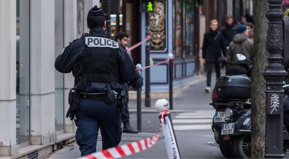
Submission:
POLYGON ((96 152, 98 130, 102 137, 102 149, 118 146, 121 141, 121 117, 118 102, 108 106, 103 100, 81 99, 75 112, 77 126, 75 139, 81 156, 96 152))

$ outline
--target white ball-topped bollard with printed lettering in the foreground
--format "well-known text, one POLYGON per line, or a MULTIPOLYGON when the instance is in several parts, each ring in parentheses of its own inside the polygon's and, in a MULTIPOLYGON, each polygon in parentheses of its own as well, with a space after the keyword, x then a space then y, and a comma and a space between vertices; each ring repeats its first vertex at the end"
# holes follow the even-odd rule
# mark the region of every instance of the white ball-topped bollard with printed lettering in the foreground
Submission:
MULTIPOLYGON (((155 109, 163 113, 170 108, 170 103, 166 99, 159 99, 155 102, 155 109)), ((159 116, 161 117, 161 115, 159 116)), ((162 133, 166 144, 166 151, 168 158, 181 158, 179 153, 179 147, 173 128, 171 114, 167 112, 164 114, 164 123, 162 124, 162 133)))

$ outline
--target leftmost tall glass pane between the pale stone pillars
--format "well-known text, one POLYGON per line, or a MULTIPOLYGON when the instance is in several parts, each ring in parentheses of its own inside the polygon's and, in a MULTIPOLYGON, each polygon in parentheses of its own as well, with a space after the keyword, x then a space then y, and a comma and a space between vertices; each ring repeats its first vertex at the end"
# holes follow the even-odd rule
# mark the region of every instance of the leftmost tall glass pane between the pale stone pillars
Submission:
POLYGON ((16 144, 22 145, 30 140, 29 5, 29 0, 16 0, 16 144))

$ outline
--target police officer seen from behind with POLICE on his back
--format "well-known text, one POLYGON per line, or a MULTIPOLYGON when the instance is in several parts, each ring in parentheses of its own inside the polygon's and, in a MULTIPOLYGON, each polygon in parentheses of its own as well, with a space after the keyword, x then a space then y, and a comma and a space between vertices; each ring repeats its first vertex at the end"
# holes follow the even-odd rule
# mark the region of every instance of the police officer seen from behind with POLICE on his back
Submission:
POLYGON ((129 82, 135 73, 127 52, 116 41, 106 38, 105 25, 103 11, 97 6, 91 8, 87 15, 89 34, 70 42, 55 60, 57 71, 72 71, 75 77, 66 117, 74 119, 77 126, 75 139, 81 156, 96 151, 99 128, 102 149, 120 143, 119 106, 124 108, 124 104, 118 101, 125 102, 120 83, 129 82))

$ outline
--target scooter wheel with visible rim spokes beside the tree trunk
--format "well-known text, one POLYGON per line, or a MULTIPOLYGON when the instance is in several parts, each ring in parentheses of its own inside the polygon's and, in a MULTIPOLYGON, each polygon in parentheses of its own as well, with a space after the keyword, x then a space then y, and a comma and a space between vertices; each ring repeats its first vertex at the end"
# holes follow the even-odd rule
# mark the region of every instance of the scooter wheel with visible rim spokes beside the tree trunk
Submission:
POLYGON ((234 151, 237 158, 251 158, 251 135, 240 135, 234 140, 234 151))

